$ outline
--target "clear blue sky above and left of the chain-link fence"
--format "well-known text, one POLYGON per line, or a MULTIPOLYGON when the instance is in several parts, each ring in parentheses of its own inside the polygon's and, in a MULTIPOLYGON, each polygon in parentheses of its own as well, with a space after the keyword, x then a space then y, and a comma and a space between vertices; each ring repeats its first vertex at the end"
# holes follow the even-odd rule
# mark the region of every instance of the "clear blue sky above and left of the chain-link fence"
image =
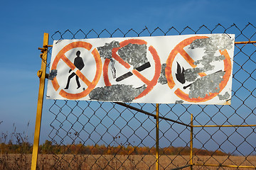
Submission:
MULTIPOLYGON (((18 130, 33 133, 36 120, 38 77, 41 68, 40 51, 43 33, 55 31, 130 28, 141 31, 172 26, 197 29, 218 23, 242 28, 248 22, 256 24, 256 1, 1 1, 0 6, 0 131, 11 132, 13 123, 18 130)), ((43 115, 43 128, 48 127, 49 115, 43 115)), ((33 137, 31 137, 33 138, 33 137)), ((44 138, 43 140, 45 140, 44 138)))

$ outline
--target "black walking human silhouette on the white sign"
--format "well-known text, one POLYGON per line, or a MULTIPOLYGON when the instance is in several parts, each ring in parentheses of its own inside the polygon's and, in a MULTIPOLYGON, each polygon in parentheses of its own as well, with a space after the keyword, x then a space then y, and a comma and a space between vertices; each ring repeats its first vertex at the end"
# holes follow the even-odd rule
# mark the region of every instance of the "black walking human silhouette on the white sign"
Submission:
MULTIPOLYGON (((75 57, 75 60, 74 60, 75 67, 77 67, 79 70, 81 70, 83 67, 85 67, 84 62, 82 61, 82 57, 80 57, 80 53, 81 53, 80 51, 78 51, 76 53, 77 57, 75 57)), ((69 72, 71 72, 71 71, 72 71, 72 69, 69 70, 69 72)), ((77 89, 80 88, 81 85, 80 85, 80 82, 79 82, 79 77, 78 77, 77 74, 75 74, 75 72, 73 72, 68 77, 68 83, 67 83, 67 86, 65 86, 65 89, 68 89, 68 86, 70 84, 70 79, 72 79, 74 76, 75 76, 75 80, 76 80, 76 82, 78 84, 78 88, 77 89)))

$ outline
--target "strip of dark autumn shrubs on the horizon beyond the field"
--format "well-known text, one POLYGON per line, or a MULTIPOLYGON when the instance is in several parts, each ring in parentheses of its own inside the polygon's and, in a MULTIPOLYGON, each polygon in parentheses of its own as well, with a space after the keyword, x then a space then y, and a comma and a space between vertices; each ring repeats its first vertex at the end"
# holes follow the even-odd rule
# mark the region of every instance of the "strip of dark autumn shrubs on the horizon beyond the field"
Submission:
MULTIPOLYGON (((0 144, 0 153, 5 154, 31 154, 32 145, 28 142, 21 142, 20 144, 0 144)), ((105 145, 82 145, 73 144, 73 145, 53 145, 52 142, 46 140, 43 145, 39 147, 39 153, 41 154, 118 154, 118 155, 134 155, 134 154, 152 154, 156 153, 155 147, 137 147, 132 145, 117 147, 114 146, 105 146, 105 145)), ((216 156, 225 156, 221 151, 208 151, 205 149, 196 149, 193 148, 193 153, 196 155, 216 155, 216 156)), ((164 147, 159 149, 159 154, 162 155, 189 155, 189 147, 164 147)))

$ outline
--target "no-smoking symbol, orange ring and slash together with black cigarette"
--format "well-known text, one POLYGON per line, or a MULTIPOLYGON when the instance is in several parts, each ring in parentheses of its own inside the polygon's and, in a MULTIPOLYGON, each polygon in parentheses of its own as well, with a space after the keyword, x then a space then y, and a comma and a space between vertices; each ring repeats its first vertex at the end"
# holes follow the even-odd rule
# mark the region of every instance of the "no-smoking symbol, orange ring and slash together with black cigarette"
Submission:
MULTIPOLYGON (((147 42, 145 40, 139 40, 139 39, 124 40, 119 43, 119 45, 120 45, 119 47, 115 47, 112 50, 112 57, 114 58, 114 60, 117 60, 117 62, 119 62, 119 64, 122 64, 122 66, 125 67, 127 70, 129 70, 131 68, 131 65, 129 63, 125 62, 122 59, 122 57, 119 57, 119 55, 117 55, 117 51, 119 49, 121 49, 122 47, 125 47, 126 45, 129 45, 129 44, 147 45, 147 42)), ((147 79, 141 73, 144 69, 148 69, 149 67, 151 67, 150 62, 146 62, 146 63, 142 64, 141 66, 132 69, 131 71, 127 71, 127 73, 122 74, 121 76, 117 77, 117 79, 116 79, 117 82, 122 83, 122 80, 127 79, 128 77, 131 77, 131 76, 135 76, 135 77, 138 77, 144 84, 146 84, 146 89, 144 89, 144 91, 142 91, 142 93, 139 94, 134 99, 142 98, 143 96, 146 96, 146 94, 149 94, 149 92, 154 88, 154 86, 156 86, 157 81, 160 77, 161 62, 160 62, 159 55, 157 54, 156 49, 153 46, 149 46, 148 50, 151 53, 153 60, 154 60, 154 63, 152 63, 152 64, 154 64, 154 77, 152 79, 147 79)), ((112 86, 112 84, 110 82, 110 78, 109 78, 109 73, 108 73, 109 72, 109 64, 110 64, 110 60, 106 59, 104 66, 103 66, 103 77, 104 77, 106 86, 112 86)))

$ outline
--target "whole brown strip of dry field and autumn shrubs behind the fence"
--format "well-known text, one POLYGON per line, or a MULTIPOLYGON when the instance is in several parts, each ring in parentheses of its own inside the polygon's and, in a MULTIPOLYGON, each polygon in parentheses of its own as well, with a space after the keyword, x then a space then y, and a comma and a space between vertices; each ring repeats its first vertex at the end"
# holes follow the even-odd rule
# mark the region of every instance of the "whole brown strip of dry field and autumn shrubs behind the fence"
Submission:
MULTIPOLYGON (((154 147, 105 145, 53 145, 46 140, 39 147, 38 169, 155 169, 154 147)), ((190 162, 189 147, 160 149, 160 169, 174 169, 190 162)), ((0 169, 30 169, 32 145, 28 142, 0 144, 0 169)), ((254 166, 256 157, 234 157, 220 151, 193 149, 194 164, 254 166), (206 156, 208 155, 208 156, 206 156)), ((201 169, 194 166, 193 169, 201 169)), ((189 169, 186 168, 186 169, 189 169)), ((209 167, 208 169, 216 169, 209 167)), ((232 168, 230 168, 232 169, 232 168)))

